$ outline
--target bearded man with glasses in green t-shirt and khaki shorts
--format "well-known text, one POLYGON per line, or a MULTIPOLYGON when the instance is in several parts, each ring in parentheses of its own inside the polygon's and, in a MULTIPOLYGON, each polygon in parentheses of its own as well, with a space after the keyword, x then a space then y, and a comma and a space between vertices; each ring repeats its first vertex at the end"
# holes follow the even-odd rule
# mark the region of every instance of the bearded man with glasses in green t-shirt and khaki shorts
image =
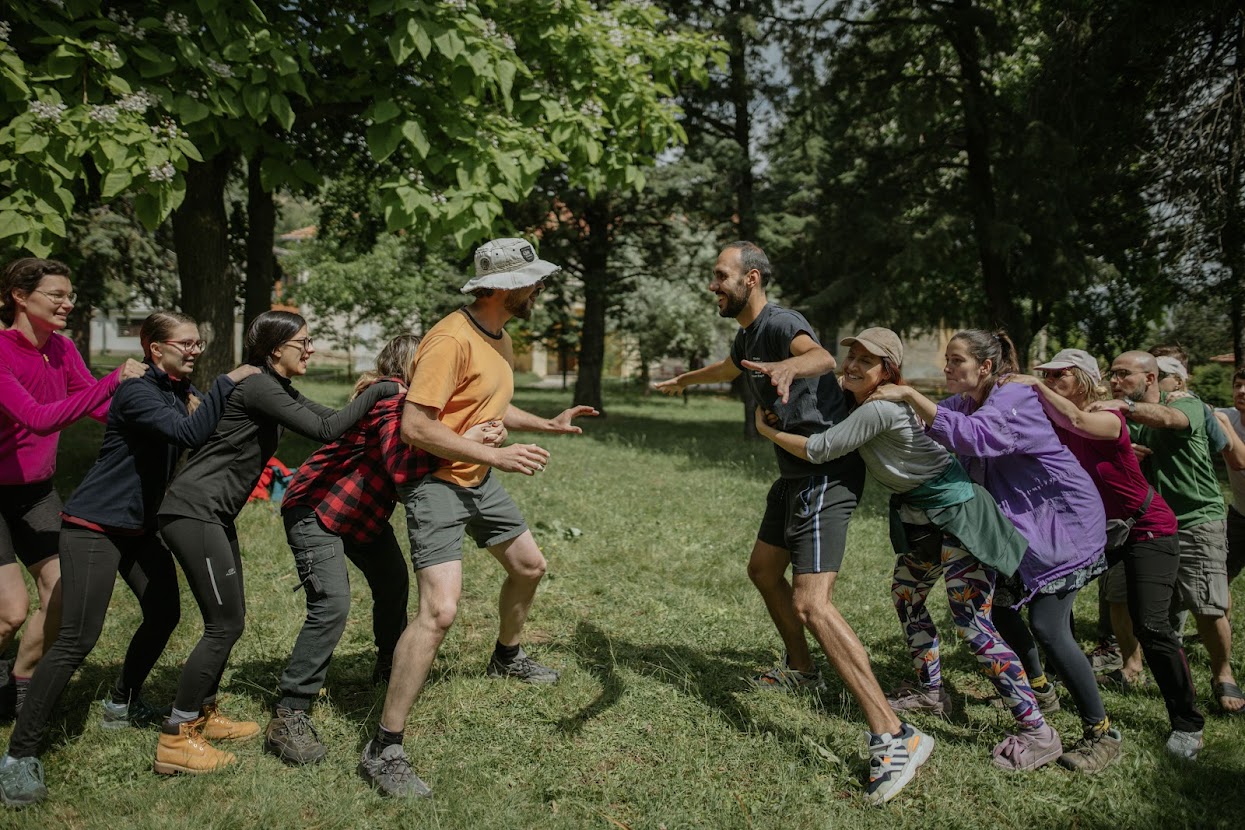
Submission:
POLYGON ((1118 409, 1128 421, 1133 444, 1149 452, 1142 472, 1172 506, 1179 524, 1178 605, 1193 612, 1210 656, 1213 691, 1221 711, 1236 714, 1245 696, 1230 662, 1233 630, 1228 620, 1228 544, 1224 497, 1210 464, 1206 407, 1193 396, 1164 403, 1158 361, 1149 352, 1128 351, 1111 365, 1114 401, 1091 409, 1118 409))

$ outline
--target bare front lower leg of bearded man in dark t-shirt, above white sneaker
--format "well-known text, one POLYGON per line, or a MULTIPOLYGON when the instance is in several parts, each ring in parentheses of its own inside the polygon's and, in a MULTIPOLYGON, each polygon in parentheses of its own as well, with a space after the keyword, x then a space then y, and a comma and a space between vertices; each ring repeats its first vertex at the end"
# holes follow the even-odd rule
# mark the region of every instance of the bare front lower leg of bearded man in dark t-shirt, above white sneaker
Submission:
POLYGON ((869 655, 855 631, 834 607, 834 580, 838 574, 796 574, 794 612, 820 643, 834 671, 864 711, 869 730, 875 734, 896 734, 903 724, 886 703, 886 697, 873 676, 869 655))

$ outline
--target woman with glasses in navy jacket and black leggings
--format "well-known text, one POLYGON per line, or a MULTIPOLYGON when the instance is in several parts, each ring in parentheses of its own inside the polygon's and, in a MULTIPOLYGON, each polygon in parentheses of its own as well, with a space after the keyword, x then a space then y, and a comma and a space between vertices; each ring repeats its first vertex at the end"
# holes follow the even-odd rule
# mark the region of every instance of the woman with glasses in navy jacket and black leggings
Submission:
POLYGON ((207 443, 234 385, 259 371, 239 366, 204 396, 188 380, 204 346, 193 319, 156 311, 139 338, 147 372, 118 387, 100 455, 62 514, 60 635, 31 678, 9 753, 0 759, 0 798, 10 805, 47 794, 39 748, 65 686, 103 630, 118 572, 138 597, 143 621, 103 702, 103 725, 158 722, 139 691, 177 627, 181 602, 173 557, 156 533, 156 510, 182 450, 207 443))

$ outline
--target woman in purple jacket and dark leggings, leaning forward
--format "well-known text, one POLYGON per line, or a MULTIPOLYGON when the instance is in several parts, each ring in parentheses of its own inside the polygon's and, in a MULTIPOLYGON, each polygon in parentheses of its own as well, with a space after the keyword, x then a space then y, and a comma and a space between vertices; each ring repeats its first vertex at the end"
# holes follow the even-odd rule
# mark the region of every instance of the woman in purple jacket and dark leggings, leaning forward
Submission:
MULTIPOLYGON (((1071 617, 1077 591, 1106 569, 1107 519, 1097 488, 1059 442, 1037 393, 1017 383, 997 385, 1017 370, 1016 346, 1006 333, 970 329, 946 346, 942 373, 951 397, 935 404, 911 387, 896 386, 880 387, 875 397, 909 403, 929 436, 959 454, 969 475, 998 500, 1003 515, 1028 540, 1016 576, 997 586, 995 625, 1020 655, 1050 712, 1058 698, 1042 669, 1035 636, 1042 645, 1084 722, 1084 737, 1059 757, 1059 764, 1092 773, 1119 755, 1120 735, 1072 636, 1071 617), (1020 615, 1023 607, 1032 633, 1020 615)), ((1050 760, 1043 759, 1046 748, 1017 747, 1017 752, 1032 754, 1035 767, 1050 760)))

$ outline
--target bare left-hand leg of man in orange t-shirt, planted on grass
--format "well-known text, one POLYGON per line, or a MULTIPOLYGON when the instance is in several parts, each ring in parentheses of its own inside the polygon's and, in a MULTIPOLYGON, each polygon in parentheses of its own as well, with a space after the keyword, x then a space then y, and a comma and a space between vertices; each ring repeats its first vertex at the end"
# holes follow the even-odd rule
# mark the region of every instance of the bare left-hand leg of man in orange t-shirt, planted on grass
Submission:
POLYGON ((415 579, 420 611, 393 650, 393 673, 381 711, 381 725, 390 732, 405 728, 406 716, 411 714, 411 707, 428 679, 437 650, 458 616, 458 597, 463 591, 462 560, 425 567, 416 571, 415 579))

